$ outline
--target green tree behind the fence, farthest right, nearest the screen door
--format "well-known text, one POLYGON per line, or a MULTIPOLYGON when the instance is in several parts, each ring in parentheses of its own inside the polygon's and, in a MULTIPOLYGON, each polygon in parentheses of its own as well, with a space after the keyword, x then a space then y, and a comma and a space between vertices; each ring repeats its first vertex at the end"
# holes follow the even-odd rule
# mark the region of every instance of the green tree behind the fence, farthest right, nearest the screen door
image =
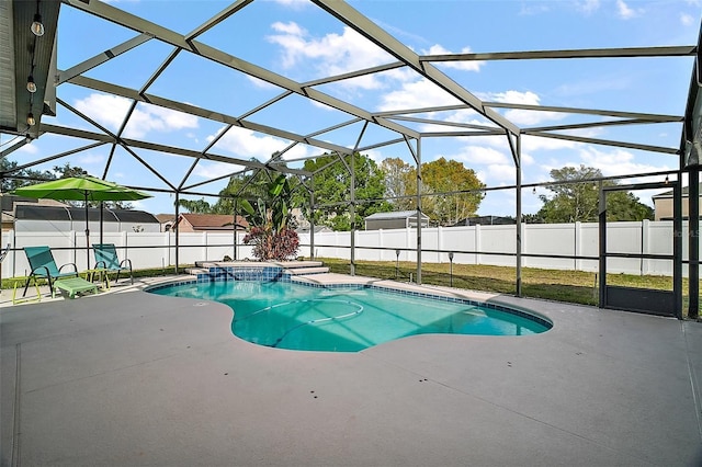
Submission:
MULTIPOLYGON (((595 223, 598 220, 599 187, 597 180, 602 178, 599 169, 581 164, 579 168, 564 167, 551 171, 553 185, 548 186, 554 195, 540 195, 544 203, 536 216, 547 224, 595 223), (578 182, 582 180, 582 182, 578 182)), ((602 181, 604 186, 615 186, 611 180, 602 181)), ((630 192, 612 192, 607 196, 607 220, 643 220, 654 218, 649 206, 638 202, 630 192)))

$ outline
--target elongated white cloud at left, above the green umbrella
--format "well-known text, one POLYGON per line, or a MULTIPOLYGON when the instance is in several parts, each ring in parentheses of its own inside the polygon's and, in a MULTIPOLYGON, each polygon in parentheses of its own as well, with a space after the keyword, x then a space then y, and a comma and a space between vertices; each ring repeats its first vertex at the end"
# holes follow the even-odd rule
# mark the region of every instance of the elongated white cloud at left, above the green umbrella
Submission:
MULTIPOLYGON (((132 101, 116 95, 93 93, 75 103, 83 114, 117 130, 126 116, 132 101)), ((196 128, 197 117, 151 104, 140 103, 132 113, 124 136, 139 138, 151 130, 173 132, 183 128, 196 128)))

